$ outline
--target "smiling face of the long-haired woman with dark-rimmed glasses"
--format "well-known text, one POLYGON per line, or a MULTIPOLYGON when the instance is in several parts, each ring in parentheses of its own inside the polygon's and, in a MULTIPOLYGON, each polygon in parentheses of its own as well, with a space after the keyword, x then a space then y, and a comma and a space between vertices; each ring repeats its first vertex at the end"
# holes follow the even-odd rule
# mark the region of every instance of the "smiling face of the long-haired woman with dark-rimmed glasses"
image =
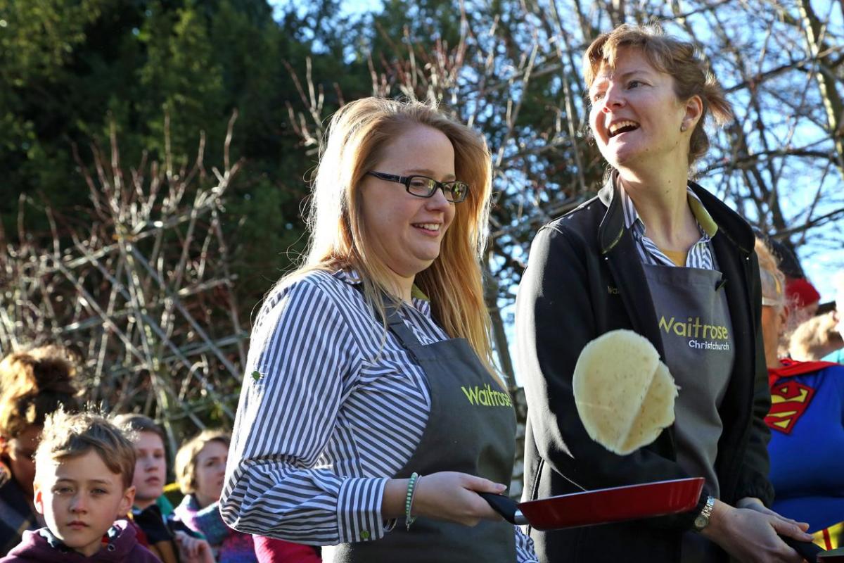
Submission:
MULTIPOLYGON (((452 142, 441 131, 424 125, 409 127, 388 143, 374 171, 428 176, 436 181, 460 179, 454 177, 452 142)), ((440 255, 456 205, 446 200, 441 189, 430 198, 419 198, 402 184, 365 176, 361 195, 367 242, 399 278, 414 278, 440 255)))

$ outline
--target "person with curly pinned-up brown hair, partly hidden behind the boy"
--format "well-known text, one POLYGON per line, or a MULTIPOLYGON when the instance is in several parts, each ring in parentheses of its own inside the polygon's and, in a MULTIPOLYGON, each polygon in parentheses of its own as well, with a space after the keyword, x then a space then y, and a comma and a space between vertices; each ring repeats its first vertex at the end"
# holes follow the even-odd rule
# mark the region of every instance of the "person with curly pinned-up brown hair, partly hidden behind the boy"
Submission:
POLYGON ((70 355, 57 346, 0 361, 0 556, 20 542, 24 530, 44 525, 33 504, 32 456, 47 414, 78 409, 75 375, 70 355))

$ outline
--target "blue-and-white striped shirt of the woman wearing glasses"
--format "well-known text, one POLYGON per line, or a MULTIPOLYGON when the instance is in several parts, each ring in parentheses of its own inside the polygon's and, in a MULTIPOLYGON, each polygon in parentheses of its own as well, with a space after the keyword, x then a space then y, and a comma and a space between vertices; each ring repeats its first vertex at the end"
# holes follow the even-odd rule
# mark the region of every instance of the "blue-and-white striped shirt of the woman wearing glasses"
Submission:
MULTIPOLYGON (((430 396, 357 283, 354 273, 312 272, 262 306, 220 500, 243 532, 321 545, 388 532, 384 486, 419 445, 430 396)), ((399 313, 422 344, 449 338, 427 300, 399 313)), ((531 540, 514 533, 517 561, 534 561, 531 540)))

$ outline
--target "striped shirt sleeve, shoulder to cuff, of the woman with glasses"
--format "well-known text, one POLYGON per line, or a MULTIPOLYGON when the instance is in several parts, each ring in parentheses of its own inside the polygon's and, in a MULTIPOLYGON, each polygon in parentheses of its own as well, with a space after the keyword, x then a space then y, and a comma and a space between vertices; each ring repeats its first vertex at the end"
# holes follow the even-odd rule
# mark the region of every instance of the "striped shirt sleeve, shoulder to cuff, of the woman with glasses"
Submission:
POLYGON ((383 535, 386 478, 318 468, 352 392, 355 344, 340 311, 308 280, 264 307, 252 331, 220 512, 241 532, 308 544, 383 535))

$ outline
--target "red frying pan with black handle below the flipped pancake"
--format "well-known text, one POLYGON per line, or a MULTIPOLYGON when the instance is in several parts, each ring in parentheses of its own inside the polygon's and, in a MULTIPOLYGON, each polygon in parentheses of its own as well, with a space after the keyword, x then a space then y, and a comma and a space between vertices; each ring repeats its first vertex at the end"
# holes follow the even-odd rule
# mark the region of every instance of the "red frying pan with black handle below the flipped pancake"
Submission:
POLYGON ((519 503, 503 495, 479 495, 508 522, 555 530, 690 511, 701 498, 703 483, 702 477, 673 479, 519 503))

